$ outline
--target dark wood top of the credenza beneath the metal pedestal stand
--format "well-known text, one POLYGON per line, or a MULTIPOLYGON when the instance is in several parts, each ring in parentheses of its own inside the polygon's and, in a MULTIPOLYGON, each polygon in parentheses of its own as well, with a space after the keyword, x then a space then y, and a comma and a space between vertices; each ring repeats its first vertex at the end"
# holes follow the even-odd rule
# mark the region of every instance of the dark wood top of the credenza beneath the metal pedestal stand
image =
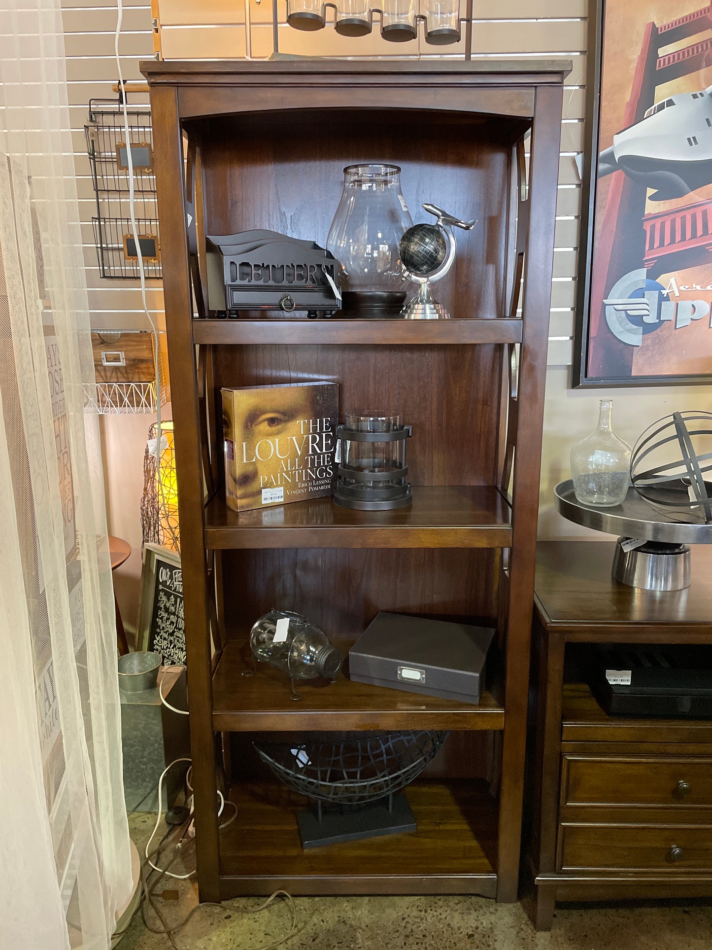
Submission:
MULTIPOLYGON (((712 635, 712 545, 692 547, 692 585, 682 591, 646 591, 613 580, 615 544, 545 541, 536 547, 535 608, 549 632, 582 628, 622 639, 712 635)), ((578 637, 568 637, 578 638, 578 637)))

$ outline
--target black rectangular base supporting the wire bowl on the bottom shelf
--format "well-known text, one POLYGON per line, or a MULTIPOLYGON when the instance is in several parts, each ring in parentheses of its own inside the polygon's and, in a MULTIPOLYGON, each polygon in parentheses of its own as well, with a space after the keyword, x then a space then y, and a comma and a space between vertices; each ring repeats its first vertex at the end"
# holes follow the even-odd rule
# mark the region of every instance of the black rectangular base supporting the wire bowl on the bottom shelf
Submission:
POLYGON ((308 808, 297 812, 297 825, 304 848, 380 838, 416 829, 415 817, 402 791, 393 796, 390 811, 387 798, 364 806, 322 806, 320 822, 314 807, 313 810, 308 808))

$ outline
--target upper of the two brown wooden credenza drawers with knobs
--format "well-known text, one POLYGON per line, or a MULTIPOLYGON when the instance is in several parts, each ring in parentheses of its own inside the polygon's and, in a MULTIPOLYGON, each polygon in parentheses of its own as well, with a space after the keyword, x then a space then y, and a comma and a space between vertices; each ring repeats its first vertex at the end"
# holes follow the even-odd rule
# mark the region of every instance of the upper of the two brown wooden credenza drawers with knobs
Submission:
POLYGON ((571 754, 562 758, 562 806, 712 806, 712 758, 571 754))

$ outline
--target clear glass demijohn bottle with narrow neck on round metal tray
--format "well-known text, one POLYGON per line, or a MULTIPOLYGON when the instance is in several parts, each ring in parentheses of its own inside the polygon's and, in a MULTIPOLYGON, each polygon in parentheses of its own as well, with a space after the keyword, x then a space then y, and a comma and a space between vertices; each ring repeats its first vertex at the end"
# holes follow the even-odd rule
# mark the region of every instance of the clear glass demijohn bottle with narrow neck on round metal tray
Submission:
POLYGON ((598 428, 571 448, 573 491, 581 504, 622 504, 630 484, 630 447, 610 428, 611 399, 599 403, 598 428))

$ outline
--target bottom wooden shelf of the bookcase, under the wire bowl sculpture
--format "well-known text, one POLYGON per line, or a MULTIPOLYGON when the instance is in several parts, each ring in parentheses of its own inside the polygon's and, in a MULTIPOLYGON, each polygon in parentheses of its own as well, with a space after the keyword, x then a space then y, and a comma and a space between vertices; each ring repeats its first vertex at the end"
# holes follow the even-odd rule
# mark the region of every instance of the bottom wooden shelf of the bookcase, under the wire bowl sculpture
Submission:
POLYGON ((220 834, 220 897, 272 894, 482 894, 494 897, 497 807, 482 781, 405 789, 418 830, 305 851, 295 813, 307 799, 276 783, 231 791, 220 834))

